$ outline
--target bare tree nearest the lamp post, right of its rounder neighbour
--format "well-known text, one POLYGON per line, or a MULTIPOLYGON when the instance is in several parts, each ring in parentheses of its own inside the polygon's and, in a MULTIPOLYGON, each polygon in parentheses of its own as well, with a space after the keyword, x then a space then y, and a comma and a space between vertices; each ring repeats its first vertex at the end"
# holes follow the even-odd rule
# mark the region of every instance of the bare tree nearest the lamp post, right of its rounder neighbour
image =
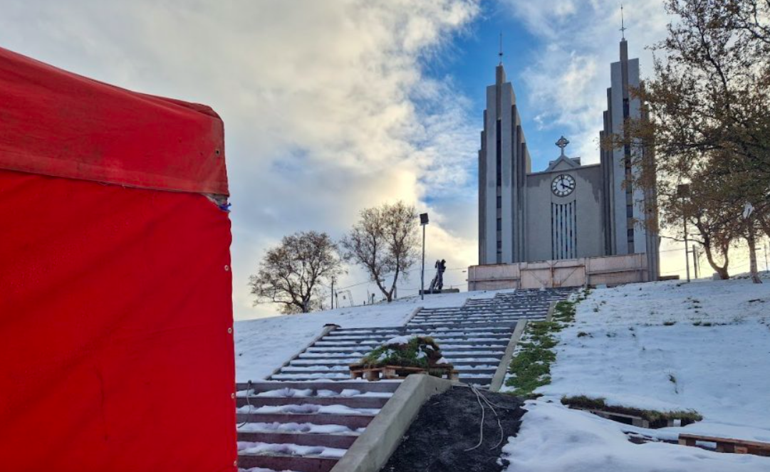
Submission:
POLYGON ((398 202, 364 209, 358 223, 341 242, 346 259, 367 269, 388 302, 393 301, 399 277, 417 262, 417 212, 398 202), (385 277, 393 276, 390 288, 385 277))

